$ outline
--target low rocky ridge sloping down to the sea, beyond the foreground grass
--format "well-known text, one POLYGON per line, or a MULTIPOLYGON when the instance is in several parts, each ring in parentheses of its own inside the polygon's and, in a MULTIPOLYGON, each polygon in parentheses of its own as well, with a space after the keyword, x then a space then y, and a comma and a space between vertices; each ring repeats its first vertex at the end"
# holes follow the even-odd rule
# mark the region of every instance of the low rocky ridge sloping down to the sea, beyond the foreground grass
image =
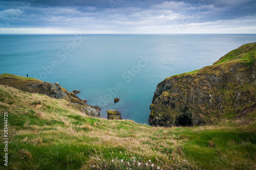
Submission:
POLYGON ((79 99, 76 94, 61 87, 59 83, 42 82, 33 78, 3 74, 0 75, 0 84, 30 93, 45 94, 55 99, 63 99, 70 102, 71 105, 76 107, 84 114, 92 117, 101 117, 100 107, 87 105, 86 102, 79 99))

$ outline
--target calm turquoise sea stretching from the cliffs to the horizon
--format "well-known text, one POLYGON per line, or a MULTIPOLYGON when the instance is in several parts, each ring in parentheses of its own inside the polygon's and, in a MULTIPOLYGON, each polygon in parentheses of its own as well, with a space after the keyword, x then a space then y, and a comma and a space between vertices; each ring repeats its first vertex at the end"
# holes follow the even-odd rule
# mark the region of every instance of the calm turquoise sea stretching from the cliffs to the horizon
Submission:
POLYGON ((0 74, 59 82, 79 98, 147 124, 166 77, 211 65, 256 35, 0 35, 0 74), (114 104, 114 98, 120 102, 114 104))

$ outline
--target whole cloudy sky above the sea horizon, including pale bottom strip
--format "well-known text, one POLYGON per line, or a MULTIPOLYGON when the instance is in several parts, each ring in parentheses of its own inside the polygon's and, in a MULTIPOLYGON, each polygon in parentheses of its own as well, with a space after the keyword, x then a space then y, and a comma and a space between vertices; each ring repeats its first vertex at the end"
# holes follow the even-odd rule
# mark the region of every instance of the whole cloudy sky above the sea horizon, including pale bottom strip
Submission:
POLYGON ((256 34, 256 1, 0 0, 0 34, 256 34))

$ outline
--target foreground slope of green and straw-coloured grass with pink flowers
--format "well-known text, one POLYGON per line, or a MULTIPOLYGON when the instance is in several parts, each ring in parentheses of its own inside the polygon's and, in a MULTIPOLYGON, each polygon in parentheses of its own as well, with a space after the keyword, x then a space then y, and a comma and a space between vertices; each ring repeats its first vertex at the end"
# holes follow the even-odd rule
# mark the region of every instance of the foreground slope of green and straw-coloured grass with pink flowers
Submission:
POLYGON ((255 169, 256 166, 256 124, 248 119, 223 121, 218 126, 150 127, 132 120, 91 118, 67 101, 2 85, 0 108, 1 169, 156 169, 157 166, 255 169), (8 167, 3 163, 6 111, 10 138, 8 167), (154 168, 146 166, 145 163, 151 164, 148 160, 155 164, 154 168), (138 166, 137 161, 142 164, 138 166))

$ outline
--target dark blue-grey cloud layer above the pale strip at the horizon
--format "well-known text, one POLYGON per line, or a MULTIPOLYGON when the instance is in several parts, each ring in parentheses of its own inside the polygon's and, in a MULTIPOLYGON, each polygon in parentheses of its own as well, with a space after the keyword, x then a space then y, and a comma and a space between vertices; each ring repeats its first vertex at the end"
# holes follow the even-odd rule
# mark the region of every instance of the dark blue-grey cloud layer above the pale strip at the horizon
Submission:
POLYGON ((0 0, 0 28, 86 27, 115 31, 221 22, 253 27, 255 9, 255 0, 0 0), (22 9, 20 2, 29 1, 34 2, 22 9))

